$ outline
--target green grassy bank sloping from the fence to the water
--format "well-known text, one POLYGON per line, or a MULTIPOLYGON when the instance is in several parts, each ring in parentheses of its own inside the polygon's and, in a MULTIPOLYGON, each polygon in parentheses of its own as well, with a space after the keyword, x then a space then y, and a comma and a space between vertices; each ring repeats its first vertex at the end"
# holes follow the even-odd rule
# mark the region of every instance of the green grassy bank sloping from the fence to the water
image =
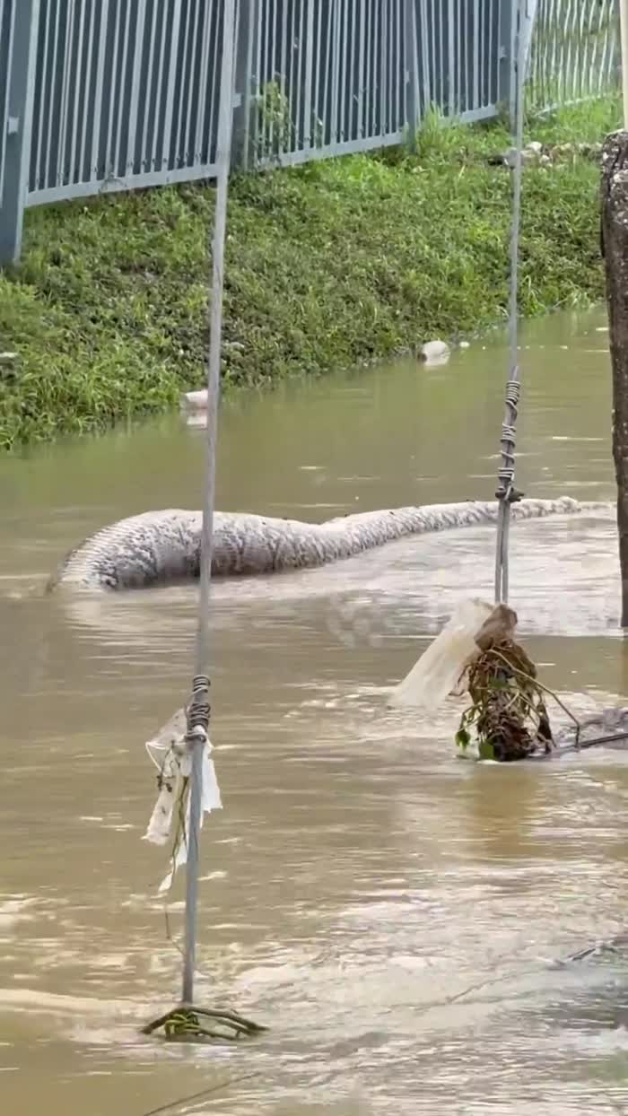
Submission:
MULTIPOLYGON (((529 122, 547 143, 618 126, 603 102, 529 122)), ((432 117, 406 150, 234 176, 223 384, 267 385, 474 335, 508 305, 510 175, 502 125, 432 117)), ((599 169, 524 176, 521 308, 602 294, 599 169)), ((31 210, 0 272, 0 448, 174 406, 204 381, 213 190, 189 185, 31 210)))

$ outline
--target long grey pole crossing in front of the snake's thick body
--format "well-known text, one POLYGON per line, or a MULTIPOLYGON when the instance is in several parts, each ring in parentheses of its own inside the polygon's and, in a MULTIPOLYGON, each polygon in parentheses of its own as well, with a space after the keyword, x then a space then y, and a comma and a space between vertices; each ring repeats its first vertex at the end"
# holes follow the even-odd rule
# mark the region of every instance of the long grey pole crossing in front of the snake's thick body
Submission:
MULTIPOLYGON (((212 304, 210 323, 210 358, 207 367, 207 444, 203 531, 201 538, 201 590, 199 631, 196 636, 195 691, 201 699, 195 723, 190 724, 189 745, 192 748, 190 788, 190 825, 185 873, 185 952, 183 961, 183 1003, 194 1002, 196 961, 196 912, 199 897, 199 840, 203 789, 203 747, 209 721, 210 661, 210 578, 212 568, 213 520, 215 502, 218 407, 220 400, 220 357, 222 341, 222 292, 226 201, 231 165, 231 132, 233 125, 233 54, 235 46, 235 0, 224 0, 222 29, 222 73, 218 133, 218 182, 212 247, 212 304), (196 685, 197 684, 197 685, 196 685), (204 693, 203 693, 204 691, 204 693), (206 710, 206 718, 203 713, 206 710), (203 720, 205 723, 203 724, 203 720)), ((192 712, 194 711, 194 696, 192 712)))

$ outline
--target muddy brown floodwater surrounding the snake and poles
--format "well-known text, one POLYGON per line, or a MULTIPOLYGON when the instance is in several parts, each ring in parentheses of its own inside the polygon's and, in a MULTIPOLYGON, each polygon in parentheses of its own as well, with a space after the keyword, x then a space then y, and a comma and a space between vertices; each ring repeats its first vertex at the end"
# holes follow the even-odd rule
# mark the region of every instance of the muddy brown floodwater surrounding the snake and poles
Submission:
MULTIPOLYGON (((529 326, 518 480, 612 499, 601 310, 529 326)), ((225 405, 219 507, 322 519, 491 498, 502 337, 225 405)), ((29 1116, 628 1113, 628 959, 555 961, 628 918, 628 757, 500 768, 455 714, 385 708, 456 603, 491 593, 494 529, 394 543, 214 591, 197 999, 270 1026, 164 1045, 181 959, 144 741, 187 696, 195 589, 42 598, 65 550, 199 507, 203 432, 174 416, 0 462, 0 1097, 29 1116), (249 1076, 252 1075, 252 1076, 249 1076), (170 1110, 170 1109, 168 1109, 170 1110)), ((612 514, 516 526, 511 600, 577 712, 626 700, 612 514)), ((559 711, 560 713, 560 711, 559 711)), ((560 718, 562 714, 560 714, 560 718)), ((182 930, 183 881, 171 896, 182 930)))

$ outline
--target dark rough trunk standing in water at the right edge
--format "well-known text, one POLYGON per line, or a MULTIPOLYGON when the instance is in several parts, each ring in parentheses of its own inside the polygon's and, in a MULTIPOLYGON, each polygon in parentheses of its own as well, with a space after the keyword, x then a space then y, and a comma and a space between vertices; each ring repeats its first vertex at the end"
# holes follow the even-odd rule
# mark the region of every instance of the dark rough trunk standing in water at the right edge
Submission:
POLYGON ((621 626, 628 627, 628 132, 602 152, 601 243, 612 367, 612 456, 621 569, 621 626))

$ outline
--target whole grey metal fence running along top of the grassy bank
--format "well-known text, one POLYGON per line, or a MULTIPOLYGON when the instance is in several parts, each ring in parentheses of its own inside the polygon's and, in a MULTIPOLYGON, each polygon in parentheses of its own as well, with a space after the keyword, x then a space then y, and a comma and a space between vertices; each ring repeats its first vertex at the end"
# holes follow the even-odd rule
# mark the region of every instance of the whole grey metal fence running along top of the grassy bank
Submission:
MULTIPOLYGON (((0 262, 23 208, 215 173, 223 0, 0 0, 0 262)), ((537 103, 601 90, 616 0, 528 0, 537 103)), ((397 144, 508 100, 512 0, 239 0, 234 157, 397 144)))

